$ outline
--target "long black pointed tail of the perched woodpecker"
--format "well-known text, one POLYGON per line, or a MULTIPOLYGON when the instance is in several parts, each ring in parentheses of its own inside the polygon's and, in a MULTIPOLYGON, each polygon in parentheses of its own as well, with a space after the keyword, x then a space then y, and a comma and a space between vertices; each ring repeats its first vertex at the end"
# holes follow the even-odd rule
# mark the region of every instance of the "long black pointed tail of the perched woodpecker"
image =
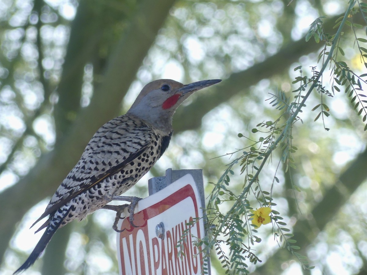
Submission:
MULTIPOLYGON (((25 271, 40 257, 42 251, 45 249, 48 242, 50 242, 52 236, 55 234, 56 230, 60 227, 62 221, 70 211, 69 205, 63 205, 61 208, 57 209, 54 213, 50 215, 49 223, 47 225, 46 231, 43 233, 41 239, 34 247, 32 253, 30 253, 28 259, 22 264, 21 267, 13 273, 13 275, 19 272, 25 271), (52 217, 52 218, 51 218, 52 217)), ((36 232, 38 232, 37 230, 36 232)))

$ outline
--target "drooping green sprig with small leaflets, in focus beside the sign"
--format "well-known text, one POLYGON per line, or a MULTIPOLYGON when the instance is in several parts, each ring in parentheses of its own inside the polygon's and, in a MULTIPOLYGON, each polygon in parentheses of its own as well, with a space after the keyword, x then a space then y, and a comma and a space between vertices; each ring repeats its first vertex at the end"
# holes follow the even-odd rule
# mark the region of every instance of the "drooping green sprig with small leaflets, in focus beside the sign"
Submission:
MULTIPOLYGON (((273 185, 269 191, 262 190, 260 184, 260 173, 262 172, 265 164, 272 158, 273 152, 279 148, 281 151, 279 163, 281 162, 288 167, 294 167, 294 160, 292 154, 297 151, 297 147, 292 145, 292 127, 295 122, 302 121, 299 117, 299 113, 306 107, 306 101, 308 100, 312 91, 317 91, 321 95, 321 103, 317 104, 312 111, 319 109, 315 121, 320 117, 328 117, 329 107, 323 101, 323 95, 333 97, 335 91, 340 91, 340 87, 346 85, 346 93, 351 99, 351 102, 355 104, 354 108, 360 108, 358 114, 364 114, 363 121, 367 118, 367 111, 364 103, 367 100, 366 97, 360 91, 362 90, 362 83, 366 84, 363 79, 367 74, 358 76, 347 66, 343 61, 338 60, 338 54, 344 56, 343 49, 339 46, 340 38, 343 34, 342 29, 345 25, 352 28, 359 28, 358 24, 352 22, 352 16, 356 12, 354 8, 357 1, 349 1, 348 10, 345 12, 344 17, 337 20, 335 28, 338 28, 334 35, 330 35, 324 32, 323 22, 321 18, 316 19, 310 26, 310 31, 306 36, 306 40, 313 37, 316 43, 320 41, 325 42, 325 47, 319 55, 319 60, 322 58, 322 67, 317 70, 316 66, 311 68, 312 76, 307 77, 302 75, 302 67, 298 66, 294 70, 299 71, 300 76, 295 78, 293 84, 299 84, 299 87, 292 91, 295 93, 294 100, 290 98, 282 91, 277 91, 276 94, 271 94, 270 104, 275 109, 281 111, 279 118, 275 121, 263 121, 259 123, 256 128, 252 129, 252 133, 262 133, 258 140, 253 140, 247 137, 251 141, 251 145, 236 150, 233 153, 226 154, 234 156, 240 153, 239 157, 233 159, 226 167, 223 175, 220 177, 217 183, 213 184, 213 190, 211 192, 208 208, 206 209, 207 217, 207 236, 203 239, 203 243, 210 249, 215 248, 217 254, 220 255, 219 259, 223 268, 226 270, 226 274, 247 274, 248 265, 246 259, 250 263, 256 264, 261 261, 255 254, 254 248, 256 242, 261 242, 261 238, 256 236, 258 228, 251 224, 254 219, 254 201, 262 208, 276 206, 272 198, 272 189, 274 181, 279 183, 279 178, 274 175, 273 185), (323 84, 323 74, 328 66, 334 64, 332 74, 334 74, 332 80, 331 91, 329 91, 323 84), (354 103, 357 102, 357 103, 354 103), (240 194, 236 194, 235 191, 230 189, 231 176, 235 175, 235 170, 240 167, 240 173, 244 175, 243 190, 240 194), (220 205, 223 205, 222 210, 220 205), (229 208, 229 209, 228 209, 229 208), (247 239, 247 242, 245 241, 247 239), (225 253, 223 246, 227 246, 229 249, 229 256, 225 253)), ((367 5, 359 3, 361 12, 367 12, 367 5)), ((366 17, 365 17, 366 18, 366 17)), ((364 38, 357 38, 356 44, 358 45, 361 58, 367 58, 367 49, 364 50, 360 47, 359 43, 366 43, 364 38)), ((365 63, 365 62, 364 62, 365 63)), ((367 65, 366 65, 367 66, 367 65)), ((324 128, 328 131, 324 124, 324 128)), ((365 130, 367 126, 365 127, 365 130)), ((243 134, 239 134, 239 137, 244 137, 243 134)), ((277 170, 276 170, 277 171, 277 170)), ((299 190, 297 186, 294 186, 295 190, 299 190)), ((279 246, 285 247, 299 260, 299 263, 304 269, 311 269, 309 267, 308 259, 302 256, 297 250, 301 249, 297 246, 297 240, 294 239, 294 235, 287 227, 287 224, 283 221, 283 217, 275 209, 272 209, 271 220, 273 224, 273 234, 279 246)))

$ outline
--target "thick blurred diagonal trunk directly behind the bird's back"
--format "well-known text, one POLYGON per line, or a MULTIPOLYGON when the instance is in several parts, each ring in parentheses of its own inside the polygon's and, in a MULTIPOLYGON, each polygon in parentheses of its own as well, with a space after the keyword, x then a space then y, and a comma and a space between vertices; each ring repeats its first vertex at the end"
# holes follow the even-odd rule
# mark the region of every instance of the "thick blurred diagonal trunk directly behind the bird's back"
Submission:
MULTIPOLYGON (((15 224, 23 214, 55 191, 80 158, 94 132, 119 113, 121 101, 173 3, 173 0, 160 0, 159 3, 141 1, 133 19, 122 33, 115 51, 109 56, 102 83, 95 89, 90 105, 80 110, 68 133, 55 143, 53 151, 41 156, 25 178, 0 194, 0 200, 8 209, 0 214, 1 258, 14 233, 15 224)), ((69 43, 73 41, 70 40, 69 43)), ((84 49, 80 51, 84 52, 84 49)), ((83 55, 83 52, 79 52, 79 55, 83 55)), ((93 54, 94 51, 89 53, 93 54)), ((72 55, 68 56, 72 58, 72 55)), ((73 60, 65 60, 65 63, 67 62, 73 60)), ((60 86, 62 85, 66 84, 60 83, 60 86)))

